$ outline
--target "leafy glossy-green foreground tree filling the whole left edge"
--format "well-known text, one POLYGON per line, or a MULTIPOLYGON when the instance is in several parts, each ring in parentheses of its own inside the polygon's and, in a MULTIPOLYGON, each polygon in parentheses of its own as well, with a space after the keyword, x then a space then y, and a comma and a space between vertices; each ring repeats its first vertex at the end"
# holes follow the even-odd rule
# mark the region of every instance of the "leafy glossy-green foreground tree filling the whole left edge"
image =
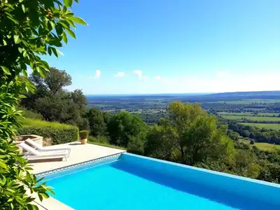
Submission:
MULTIPOLYGON (((78 0, 76 0, 78 1, 78 0)), ((50 70, 41 59, 47 53, 58 57, 67 34, 75 38, 72 1, 0 1, 0 207, 1 209, 38 209, 33 192, 43 200, 49 197, 45 184, 38 183, 30 165, 13 144, 21 116, 17 110, 23 90, 34 90, 27 78, 27 65, 45 76, 50 70), (24 75, 24 76, 22 76, 24 75)))

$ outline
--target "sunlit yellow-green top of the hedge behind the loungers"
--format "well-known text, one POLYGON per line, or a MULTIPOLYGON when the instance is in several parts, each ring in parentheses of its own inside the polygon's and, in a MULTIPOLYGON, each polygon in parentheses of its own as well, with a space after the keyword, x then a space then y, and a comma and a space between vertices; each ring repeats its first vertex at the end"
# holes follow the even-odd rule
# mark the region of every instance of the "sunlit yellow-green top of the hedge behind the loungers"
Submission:
POLYGON ((48 122, 48 121, 45 121, 45 120, 34 120, 34 119, 29 119, 29 118, 25 118, 23 120, 20 120, 20 123, 22 123, 23 127, 28 127, 28 126, 57 127, 57 128, 62 128, 62 129, 75 127, 73 125, 66 125, 66 124, 57 123, 57 122, 48 122))

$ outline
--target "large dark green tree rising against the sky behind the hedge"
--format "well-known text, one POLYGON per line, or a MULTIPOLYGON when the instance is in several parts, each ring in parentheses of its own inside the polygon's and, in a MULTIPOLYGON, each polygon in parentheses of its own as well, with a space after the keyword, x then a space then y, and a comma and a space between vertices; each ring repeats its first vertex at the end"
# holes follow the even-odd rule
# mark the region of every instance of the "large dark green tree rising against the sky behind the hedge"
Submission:
POLYGON ((26 93, 22 106, 41 113, 44 120, 58 121, 87 129, 83 115, 87 100, 81 90, 66 92, 63 87, 71 85, 71 76, 66 71, 50 68, 45 78, 33 73, 29 80, 36 85, 36 92, 26 93))

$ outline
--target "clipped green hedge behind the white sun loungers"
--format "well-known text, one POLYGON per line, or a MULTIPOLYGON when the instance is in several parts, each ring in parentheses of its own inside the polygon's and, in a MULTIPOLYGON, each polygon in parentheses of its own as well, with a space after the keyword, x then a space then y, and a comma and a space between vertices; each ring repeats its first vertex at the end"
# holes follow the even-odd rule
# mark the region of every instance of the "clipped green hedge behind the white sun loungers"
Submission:
POLYGON ((43 120, 22 120, 18 135, 36 134, 52 139, 52 144, 65 144, 79 139, 78 127, 43 120))

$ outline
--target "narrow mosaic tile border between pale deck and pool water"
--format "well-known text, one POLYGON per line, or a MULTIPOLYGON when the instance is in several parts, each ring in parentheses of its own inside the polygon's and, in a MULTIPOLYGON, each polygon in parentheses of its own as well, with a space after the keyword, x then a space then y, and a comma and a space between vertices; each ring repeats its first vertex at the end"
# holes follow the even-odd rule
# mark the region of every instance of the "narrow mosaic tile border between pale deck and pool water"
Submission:
POLYGON ((85 162, 79 162, 77 164, 73 164, 73 165, 68 165, 66 167, 61 167, 61 168, 58 168, 58 169, 53 169, 53 170, 50 170, 50 171, 47 171, 47 172, 41 172, 41 173, 38 173, 38 174, 35 174, 37 178, 41 178, 43 176, 48 176, 50 174, 55 174, 57 172, 64 172, 68 169, 74 169, 76 167, 80 167, 80 166, 84 166, 84 165, 90 165, 94 162, 100 162, 102 160, 106 160, 106 159, 109 159, 109 158, 118 158, 120 157, 120 155, 122 155, 122 153, 116 153, 114 155, 107 155, 107 156, 104 156, 102 158, 96 158, 96 159, 93 159, 93 160, 87 160, 85 162))

